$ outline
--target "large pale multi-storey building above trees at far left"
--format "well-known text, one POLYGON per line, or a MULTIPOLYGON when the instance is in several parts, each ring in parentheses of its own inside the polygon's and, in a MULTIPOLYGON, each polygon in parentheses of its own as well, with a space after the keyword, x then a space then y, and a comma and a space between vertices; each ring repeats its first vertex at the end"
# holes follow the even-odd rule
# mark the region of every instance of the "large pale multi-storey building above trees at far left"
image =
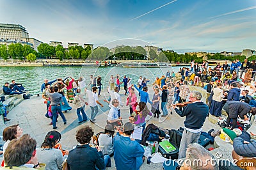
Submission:
POLYGON ((26 28, 19 24, 0 24, 0 44, 10 45, 11 43, 30 45, 37 51, 38 45, 43 42, 29 38, 26 28))

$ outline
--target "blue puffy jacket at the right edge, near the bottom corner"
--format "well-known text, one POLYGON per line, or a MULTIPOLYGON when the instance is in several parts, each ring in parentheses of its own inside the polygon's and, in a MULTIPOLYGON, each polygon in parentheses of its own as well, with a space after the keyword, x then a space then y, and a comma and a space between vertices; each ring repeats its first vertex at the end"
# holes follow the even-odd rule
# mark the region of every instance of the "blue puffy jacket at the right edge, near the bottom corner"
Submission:
POLYGON ((244 144, 244 139, 236 137, 233 142, 237 155, 243 157, 256 157, 256 142, 244 144))

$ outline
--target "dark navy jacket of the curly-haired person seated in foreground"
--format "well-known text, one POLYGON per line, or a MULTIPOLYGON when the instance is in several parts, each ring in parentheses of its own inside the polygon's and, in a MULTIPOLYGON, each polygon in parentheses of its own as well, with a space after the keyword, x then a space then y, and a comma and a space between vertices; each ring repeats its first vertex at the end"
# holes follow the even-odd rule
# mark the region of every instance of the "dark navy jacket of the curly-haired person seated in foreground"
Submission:
POLYGON ((77 145, 70 150, 67 159, 68 169, 104 169, 104 157, 101 151, 92 148, 89 144, 77 145))

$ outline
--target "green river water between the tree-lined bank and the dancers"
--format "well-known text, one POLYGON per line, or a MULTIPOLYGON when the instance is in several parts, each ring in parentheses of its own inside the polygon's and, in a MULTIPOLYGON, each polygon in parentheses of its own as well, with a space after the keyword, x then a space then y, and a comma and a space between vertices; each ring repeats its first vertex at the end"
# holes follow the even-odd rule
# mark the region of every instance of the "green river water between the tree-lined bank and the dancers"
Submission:
MULTIPOLYGON (((115 67, 104 67, 104 66, 4 66, 0 67, 0 83, 1 86, 4 82, 11 82, 13 79, 17 83, 22 83, 31 94, 41 93, 40 87, 47 78, 49 81, 57 79, 58 77, 65 78, 68 76, 78 79, 79 76, 83 76, 88 83, 90 81, 90 75, 100 75, 102 77, 102 84, 106 88, 109 77, 116 75, 117 73, 123 77, 132 78, 132 83, 138 81, 138 77, 141 75, 150 79, 149 83, 154 82, 157 76, 161 77, 166 75, 166 72, 178 72, 180 66, 170 66, 163 68, 122 68, 119 66, 115 67)), ((121 79, 120 79, 121 81, 121 79)))

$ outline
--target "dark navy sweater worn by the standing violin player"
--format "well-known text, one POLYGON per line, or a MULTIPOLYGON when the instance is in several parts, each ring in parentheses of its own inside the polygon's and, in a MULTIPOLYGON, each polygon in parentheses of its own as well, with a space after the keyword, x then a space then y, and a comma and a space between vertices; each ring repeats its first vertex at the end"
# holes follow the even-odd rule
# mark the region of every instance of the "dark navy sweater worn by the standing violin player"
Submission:
POLYGON ((209 107, 203 102, 195 102, 188 104, 182 111, 177 108, 175 108, 175 111, 181 117, 186 116, 184 121, 186 128, 199 129, 204 125, 205 118, 209 113, 209 107))

